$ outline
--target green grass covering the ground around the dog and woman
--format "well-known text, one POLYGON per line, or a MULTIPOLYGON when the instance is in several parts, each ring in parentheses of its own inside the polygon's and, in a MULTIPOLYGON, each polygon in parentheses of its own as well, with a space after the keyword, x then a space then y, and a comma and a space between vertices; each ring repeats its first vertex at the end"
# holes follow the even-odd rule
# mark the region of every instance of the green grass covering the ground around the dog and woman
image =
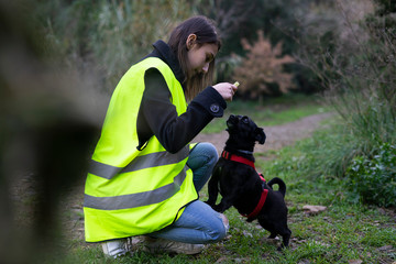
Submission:
MULTIPOLYGON (((246 114, 261 117, 255 119, 257 122, 266 122, 266 116, 250 110, 249 103, 238 107, 241 107, 238 112, 246 110, 246 114)), ((290 112, 299 108, 305 109, 301 112, 311 109, 311 113, 316 113, 315 109, 319 106, 309 108, 297 103, 274 112, 292 116, 290 112)), ((238 110, 231 106, 230 109, 238 110)), ((265 153, 255 154, 257 170, 266 179, 278 176, 287 184, 288 223, 293 234, 290 246, 283 252, 276 250, 279 241, 274 244, 274 241, 266 240, 270 235, 267 231, 255 221, 248 223, 231 208, 226 211, 231 226, 227 240, 208 246, 195 256, 152 255, 138 249, 132 256, 114 261, 106 258, 99 245, 74 240, 66 243, 66 256, 47 263, 395 263, 395 211, 350 200, 342 179, 321 173, 320 164, 315 160, 316 151, 321 148, 318 142, 326 146, 338 140, 330 125, 311 139, 273 151, 274 160, 262 158, 267 155, 265 153), (326 206, 327 210, 307 215, 302 210, 305 205, 326 206)), ((200 195, 206 200, 206 188, 204 190, 200 195)))

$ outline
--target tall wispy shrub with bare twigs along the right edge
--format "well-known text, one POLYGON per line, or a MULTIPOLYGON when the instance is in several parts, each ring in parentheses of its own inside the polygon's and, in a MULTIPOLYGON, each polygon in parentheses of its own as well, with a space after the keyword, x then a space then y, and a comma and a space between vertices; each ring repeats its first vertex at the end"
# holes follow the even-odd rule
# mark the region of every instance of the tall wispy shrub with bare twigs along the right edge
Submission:
POLYGON ((302 61, 320 77, 328 102, 343 119, 344 133, 359 143, 360 155, 369 156, 382 142, 395 144, 396 46, 392 30, 353 15, 374 12, 365 2, 338 1, 340 20, 333 41, 318 42, 318 48, 307 50, 302 61))

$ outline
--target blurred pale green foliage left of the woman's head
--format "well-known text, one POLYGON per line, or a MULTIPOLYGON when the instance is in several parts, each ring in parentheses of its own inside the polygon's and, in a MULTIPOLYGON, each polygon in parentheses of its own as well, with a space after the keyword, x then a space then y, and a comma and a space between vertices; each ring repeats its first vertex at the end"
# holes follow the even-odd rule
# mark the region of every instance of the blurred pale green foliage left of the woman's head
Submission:
POLYGON ((37 19, 58 57, 81 75, 94 72, 108 94, 152 43, 191 15, 186 0, 42 1, 37 19))

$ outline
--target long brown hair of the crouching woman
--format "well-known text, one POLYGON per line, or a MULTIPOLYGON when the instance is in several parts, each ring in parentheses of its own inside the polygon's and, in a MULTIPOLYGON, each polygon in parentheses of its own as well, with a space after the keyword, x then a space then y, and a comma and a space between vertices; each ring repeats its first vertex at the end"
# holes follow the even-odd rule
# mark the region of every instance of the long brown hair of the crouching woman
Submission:
POLYGON ((184 84, 186 85, 185 95, 187 100, 198 95, 205 87, 211 85, 215 73, 215 59, 209 64, 207 74, 189 76, 188 74, 188 57, 187 57, 187 37, 189 34, 196 34, 196 44, 199 46, 210 43, 217 44, 218 50, 221 47, 221 42, 218 37, 215 22, 204 15, 193 16, 178 26, 170 33, 168 45, 177 55, 183 73, 185 74, 184 84))

